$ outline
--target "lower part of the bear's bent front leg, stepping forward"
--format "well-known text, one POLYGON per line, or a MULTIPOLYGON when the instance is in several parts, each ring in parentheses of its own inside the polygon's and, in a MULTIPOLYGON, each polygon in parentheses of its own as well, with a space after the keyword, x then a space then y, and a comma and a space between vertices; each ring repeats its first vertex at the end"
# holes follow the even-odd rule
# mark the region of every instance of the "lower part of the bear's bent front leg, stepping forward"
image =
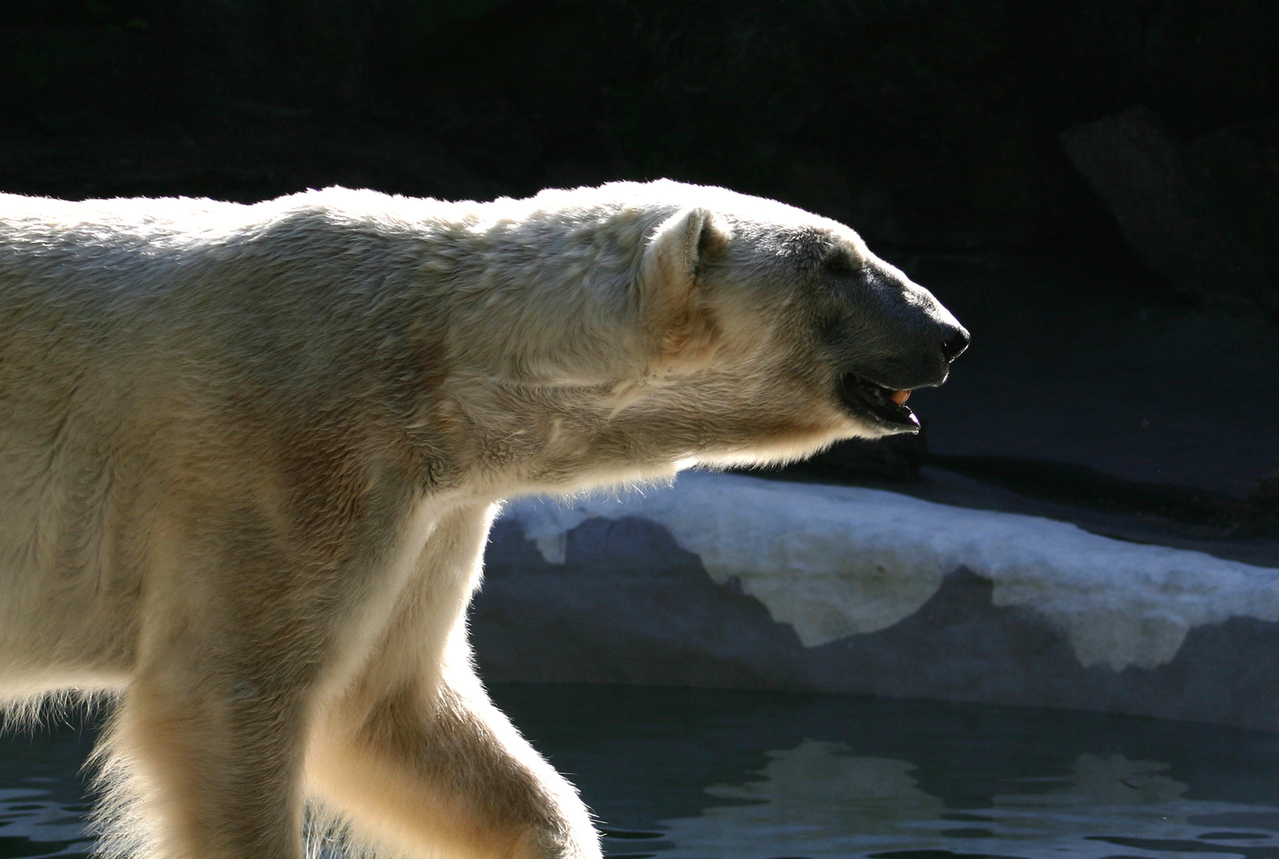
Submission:
POLYGON ((430 689, 338 704, 307 775, 358 839, 411 856, 592 859, 577 791, 490 703, 469 667, 430 689))

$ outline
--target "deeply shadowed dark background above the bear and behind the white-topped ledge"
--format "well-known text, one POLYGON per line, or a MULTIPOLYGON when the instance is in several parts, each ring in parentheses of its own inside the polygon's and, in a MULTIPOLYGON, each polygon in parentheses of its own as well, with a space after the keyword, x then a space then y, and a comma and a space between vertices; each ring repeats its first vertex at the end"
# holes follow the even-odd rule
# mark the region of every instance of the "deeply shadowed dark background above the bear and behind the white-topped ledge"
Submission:
POLYGON ((843 220, 973 332, 922 438, 790 477, 1279 562, 1279 4, 0 5, 3 190, 659 176, 843 220))

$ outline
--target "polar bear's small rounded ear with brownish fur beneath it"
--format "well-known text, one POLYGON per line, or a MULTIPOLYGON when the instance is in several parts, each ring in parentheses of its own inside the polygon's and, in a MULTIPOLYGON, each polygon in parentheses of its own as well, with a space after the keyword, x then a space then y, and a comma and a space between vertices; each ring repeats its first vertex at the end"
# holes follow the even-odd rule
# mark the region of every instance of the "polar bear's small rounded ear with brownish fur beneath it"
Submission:
POLYGON ((660 340, 664 368, 694 369, 710 359, 715 321, 698 294, 702 267, 724 253, 732 234, 702 207, 675 212, 654 231, 645 248, 640 307, 660 340))

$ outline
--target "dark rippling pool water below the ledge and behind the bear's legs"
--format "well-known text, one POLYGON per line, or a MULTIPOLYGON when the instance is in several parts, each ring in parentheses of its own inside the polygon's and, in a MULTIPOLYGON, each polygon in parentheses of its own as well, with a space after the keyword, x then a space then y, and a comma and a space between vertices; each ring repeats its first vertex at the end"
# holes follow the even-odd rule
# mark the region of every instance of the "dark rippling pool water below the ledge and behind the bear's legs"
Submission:
MULTIPOLYGON (((499 686, 614 859, 1279 859, 1279 735, 1014 708, 499 686)), ((91 731, 0 745, 0 859, 91 847, 91 731)))

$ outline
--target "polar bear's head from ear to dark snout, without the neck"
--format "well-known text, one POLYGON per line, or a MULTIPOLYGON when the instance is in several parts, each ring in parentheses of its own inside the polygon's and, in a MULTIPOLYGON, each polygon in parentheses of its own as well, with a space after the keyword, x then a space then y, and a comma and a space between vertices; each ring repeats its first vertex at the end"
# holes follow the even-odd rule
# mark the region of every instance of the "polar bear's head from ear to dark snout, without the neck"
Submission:
POLYGON ((944 382, 968 345, 954 316, 839 222, 700 192, 643 252, 642 316, 659 343, 652 376, 738 398, 728 408, 761 427, 778 414, 790 423, 774 426, 781 445, 762 456, 709 459, 788 459, 838 438, 918 431, 907 396, 944 382))

